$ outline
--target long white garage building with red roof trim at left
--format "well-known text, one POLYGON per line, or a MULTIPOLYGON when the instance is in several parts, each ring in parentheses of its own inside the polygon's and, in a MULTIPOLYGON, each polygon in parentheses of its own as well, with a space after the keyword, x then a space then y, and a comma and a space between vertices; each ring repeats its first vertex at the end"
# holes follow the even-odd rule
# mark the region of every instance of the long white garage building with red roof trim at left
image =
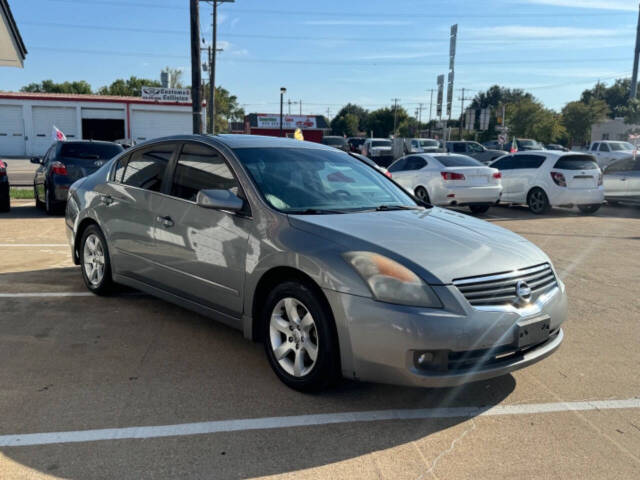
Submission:
MULTIPOLYGON (((0 157, 42 155, 55 125, 68 140, 151 138, 192 132, 191 104, 141 97, 0 92, 0 157)), ((204 115, 203 115, 204 117, 204 115)))

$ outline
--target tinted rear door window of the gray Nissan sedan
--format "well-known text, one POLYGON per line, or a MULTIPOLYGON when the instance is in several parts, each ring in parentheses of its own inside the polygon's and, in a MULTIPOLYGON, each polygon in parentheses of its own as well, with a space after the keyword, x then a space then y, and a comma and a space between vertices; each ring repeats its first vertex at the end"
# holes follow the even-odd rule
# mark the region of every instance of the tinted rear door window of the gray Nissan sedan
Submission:
POLYGON ((162 190, 162 179, 175 145, 161 144, 133 152, 122 176, 122 183, 152 192, 162 190))

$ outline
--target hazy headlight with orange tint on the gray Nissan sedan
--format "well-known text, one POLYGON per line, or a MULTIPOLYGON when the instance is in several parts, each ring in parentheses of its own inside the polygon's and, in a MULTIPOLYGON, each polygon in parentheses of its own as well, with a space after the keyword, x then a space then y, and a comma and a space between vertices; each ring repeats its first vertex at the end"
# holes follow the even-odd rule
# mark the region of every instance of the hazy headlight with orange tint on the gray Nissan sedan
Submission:
POLYGON ((348 252, 344 258, 367 282, 376 299, 400 305, 442 308, 442 302, 431 287, 398 262, 372 252, 348 252))

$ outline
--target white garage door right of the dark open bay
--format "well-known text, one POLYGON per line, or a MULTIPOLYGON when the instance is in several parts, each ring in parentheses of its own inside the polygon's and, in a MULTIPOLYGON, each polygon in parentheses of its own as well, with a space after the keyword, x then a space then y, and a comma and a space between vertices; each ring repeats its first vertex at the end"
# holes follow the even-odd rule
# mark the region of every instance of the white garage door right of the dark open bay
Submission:
POLYGON ((192 131, 191 112, 152 110, 132 110, 131 112, 131 136, 136 142, 192 131))

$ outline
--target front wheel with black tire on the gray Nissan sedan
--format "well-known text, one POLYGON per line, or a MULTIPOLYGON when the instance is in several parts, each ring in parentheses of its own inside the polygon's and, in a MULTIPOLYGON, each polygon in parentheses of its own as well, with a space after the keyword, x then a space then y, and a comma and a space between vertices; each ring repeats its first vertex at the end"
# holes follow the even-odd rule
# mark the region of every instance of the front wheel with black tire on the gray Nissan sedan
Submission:
POLYGON ((276 286, 262 309, 262 326, 267 359, 285 385, 313 392, 338 377, 333 316, 314 289, 294 281, 276 286))

